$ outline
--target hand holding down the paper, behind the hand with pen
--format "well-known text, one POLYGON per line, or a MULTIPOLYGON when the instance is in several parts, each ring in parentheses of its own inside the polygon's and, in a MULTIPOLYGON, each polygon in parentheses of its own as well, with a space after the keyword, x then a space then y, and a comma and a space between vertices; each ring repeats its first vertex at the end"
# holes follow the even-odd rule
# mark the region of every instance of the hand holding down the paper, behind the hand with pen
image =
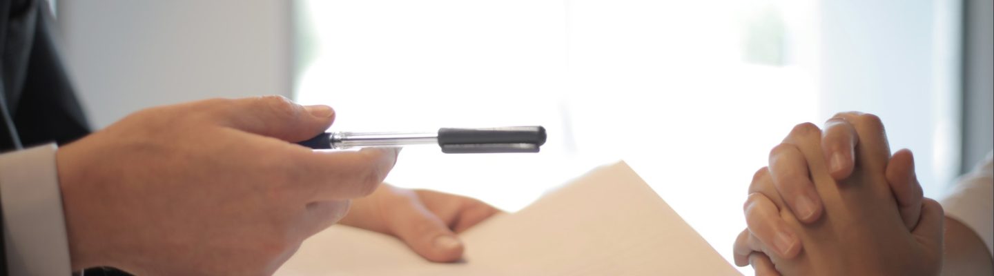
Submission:
POLYGON ((451 262, 462 257, 462 232, 500 212, 483 202, 444 193, 381 185, 368 198, 353 202, 341 223, 397 236, 427 260, 451 262))

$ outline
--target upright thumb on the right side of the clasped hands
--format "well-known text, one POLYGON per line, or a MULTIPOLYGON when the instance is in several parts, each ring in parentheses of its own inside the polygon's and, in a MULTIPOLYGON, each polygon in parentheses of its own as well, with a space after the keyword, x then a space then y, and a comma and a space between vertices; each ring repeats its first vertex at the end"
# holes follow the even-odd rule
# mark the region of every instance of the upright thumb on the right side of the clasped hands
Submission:
POLYGON ((887 164, 887 182, 891 185, 894 198, 898 200, 901 218, 908 229, 914 229, 921 214, 921 201, 924 195, 914 174, 914 156, 908 149, 894 153, 887 164))

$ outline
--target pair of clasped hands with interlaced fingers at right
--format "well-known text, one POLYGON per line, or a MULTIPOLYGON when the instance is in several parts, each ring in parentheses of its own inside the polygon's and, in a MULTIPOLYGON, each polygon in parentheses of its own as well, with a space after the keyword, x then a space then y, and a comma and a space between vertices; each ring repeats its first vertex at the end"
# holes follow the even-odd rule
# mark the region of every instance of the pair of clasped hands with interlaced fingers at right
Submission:
POLYGON ((736 264, 757 275, 936 275, 942 207, 872 114, 794 127, 756 172, 736 264))

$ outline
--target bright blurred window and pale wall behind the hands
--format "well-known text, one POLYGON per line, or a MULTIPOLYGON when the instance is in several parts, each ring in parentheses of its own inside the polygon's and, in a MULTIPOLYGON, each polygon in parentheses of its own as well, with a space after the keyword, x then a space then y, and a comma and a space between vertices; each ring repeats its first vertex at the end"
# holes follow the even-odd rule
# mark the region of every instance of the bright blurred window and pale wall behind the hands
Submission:
POLYGON ((259 94, 333 130, 544 125, 540 154, 409 147, 388 182, 514 211, 624 160, 730 261, 797 123, 880 115, 931 198, 994 144, 989 0, 54 2, 94 127, 259 94))

